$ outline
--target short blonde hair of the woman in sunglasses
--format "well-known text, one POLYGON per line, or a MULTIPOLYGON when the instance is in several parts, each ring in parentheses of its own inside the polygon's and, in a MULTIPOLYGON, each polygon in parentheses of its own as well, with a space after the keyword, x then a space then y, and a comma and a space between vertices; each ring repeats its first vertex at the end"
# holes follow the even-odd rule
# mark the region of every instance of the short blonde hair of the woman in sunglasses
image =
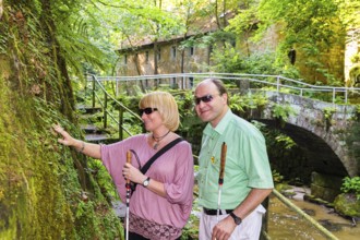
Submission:
POLYGON ((139 108, 157 108, 164 124, 172 132, 178 130, 180 117, 175 97, 167 92, 152 92, 142 97, 139 108))

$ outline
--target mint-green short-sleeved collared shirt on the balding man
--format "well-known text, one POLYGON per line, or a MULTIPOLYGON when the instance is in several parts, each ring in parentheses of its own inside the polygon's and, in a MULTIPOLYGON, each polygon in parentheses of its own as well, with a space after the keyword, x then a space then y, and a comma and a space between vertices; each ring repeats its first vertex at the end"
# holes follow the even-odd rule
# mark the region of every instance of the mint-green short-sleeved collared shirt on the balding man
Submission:
POLYGON ((263 134, 231 110, 214 129, 209 123, 203 131, 199 156, 199 205, 216 209, 223 143, 227 144, 221 209, 236 208, 252 188, 274 188, 263 134))

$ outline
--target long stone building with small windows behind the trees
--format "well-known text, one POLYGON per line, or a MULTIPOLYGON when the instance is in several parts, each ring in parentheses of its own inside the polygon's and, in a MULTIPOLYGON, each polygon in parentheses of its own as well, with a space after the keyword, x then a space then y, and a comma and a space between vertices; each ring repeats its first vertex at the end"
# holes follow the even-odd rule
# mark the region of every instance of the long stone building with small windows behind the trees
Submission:
MULTIPOLYGON (((226 14, 227 19, 232 17, 231 13, 226 14)), ((221 20, 221 23, 224 21, 221 20)), ((227 23, 225 23, 227 24, 227 23)), ((254 23, 255 25, 256 23, 254 23)), ((117 65, 117 74, 120 76, 172 74, 172 73, 202 73, 209 72, 213 64, 211 55, 214 48, 223 47, 225 41, 212 45, 194 45, 182 47, 182 43, 189 38, 196 38, 218 31, 216 20, 202 20, 189 31, 185 37, 173 37, 161 39, 156 43, 148 39, 141 40, 130 46, 128 41, 122 43, 121 49, 117 52, 120 61, 117 65), (154 53, 156 52, 156 53, 154 53)), ((276 27, 272 27, 264 39, 259 44, 244 44, 243 37, 238 39, 227 39, 227 44, 236 46, 239 52, 248 55, 249 52, 263 51, 267 49, 275 50, 278 43, 276 27)), ((172 80, 170 80, 172 81, 172 80)), ((176 80, 173 79, 173 82, 176 80)), ((175 84, 175 83, 173 83, 175 84)), ((192 86, 192 79, 181 83, 183 87, 192 86)))

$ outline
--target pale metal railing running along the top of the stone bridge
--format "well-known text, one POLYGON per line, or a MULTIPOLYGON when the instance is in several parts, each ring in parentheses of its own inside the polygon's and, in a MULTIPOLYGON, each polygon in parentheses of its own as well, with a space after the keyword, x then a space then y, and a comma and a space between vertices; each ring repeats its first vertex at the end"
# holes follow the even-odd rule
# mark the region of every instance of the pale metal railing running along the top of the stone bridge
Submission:
MULTIPOLYGON (((98 81, 115 81, 115 82, 146 82, 145 87, 158 86, 167 83, 169 87, 178 87, 180 89, 192 89, 194 85, 203 79, 217 77, 223 81, 238 83, 239 85, 249 84, 250 88, 272 87, 276 92, 289 92, 301 97, 315 98, 321 95, 321 100, 328 101, 324 98, 324 94, 331 95, 328 97, 331 103, 335 104, 341 101, 349 104, 349 96, 360 97, 360 87, 337 87, 337 86, 319 86, 311 85, 298 80, 288 79, 280 75, 266 74, 241 74, 241 73, 175 73, 160 75, 139 75, 139 76, 98 76, 98 81), (152 80, 154 83, 148 84, 152 80), (252 86, 253 85, 253 86, 252 86)), ((118 85, 117 85, 118 86, 118 85)), ((327 96, 327 95, 326 95, 327 96)), ((325 97, 326 97, 325 96, 325 97)))

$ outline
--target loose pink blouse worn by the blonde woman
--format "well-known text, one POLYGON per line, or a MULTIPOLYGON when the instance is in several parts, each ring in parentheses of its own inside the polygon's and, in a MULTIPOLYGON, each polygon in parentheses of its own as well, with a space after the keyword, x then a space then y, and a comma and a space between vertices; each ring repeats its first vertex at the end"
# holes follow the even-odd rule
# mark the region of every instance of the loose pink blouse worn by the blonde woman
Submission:
MULTIPOLYGON (((123 202, 127 190, 122 168, 129 149, 136 152, 142 167, 156 153, 148 146, 146 134, 101 145, 103 164, 111 175, 123 202)), ((139 168, 133 154, 132 165, 139 168)), ((145 175, 164 183, 166 197, 137 184, 130 200, 130 212, 160 225, 182 228, 188 221, 193 201, 194 168, 191 145, 187 141, 178 143, 157 158, 145 175)))

